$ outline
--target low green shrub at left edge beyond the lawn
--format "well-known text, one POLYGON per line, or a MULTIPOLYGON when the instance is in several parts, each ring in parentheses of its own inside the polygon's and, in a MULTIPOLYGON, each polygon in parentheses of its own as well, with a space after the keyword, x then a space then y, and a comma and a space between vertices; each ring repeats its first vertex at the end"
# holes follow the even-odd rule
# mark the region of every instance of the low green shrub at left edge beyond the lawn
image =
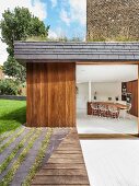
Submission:
POLYGON ((18 89, 18 83, 14 80, 0 80, 0 95, 16 95, 18 89))

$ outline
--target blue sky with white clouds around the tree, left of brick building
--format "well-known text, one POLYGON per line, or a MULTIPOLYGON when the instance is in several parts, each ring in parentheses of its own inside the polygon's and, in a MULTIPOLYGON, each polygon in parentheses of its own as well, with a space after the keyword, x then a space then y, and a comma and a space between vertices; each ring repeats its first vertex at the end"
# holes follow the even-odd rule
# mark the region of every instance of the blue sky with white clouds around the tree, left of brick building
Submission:
MULTIPOLYGON (((46 25, 50 25, 49 38, 85 38, 86 0, 0 0, 0 20, 4 10, 13 10, 15 7, 28 8, 46 25)), ((0 39, 0 65, 7 57, 7 45, 0 39)))

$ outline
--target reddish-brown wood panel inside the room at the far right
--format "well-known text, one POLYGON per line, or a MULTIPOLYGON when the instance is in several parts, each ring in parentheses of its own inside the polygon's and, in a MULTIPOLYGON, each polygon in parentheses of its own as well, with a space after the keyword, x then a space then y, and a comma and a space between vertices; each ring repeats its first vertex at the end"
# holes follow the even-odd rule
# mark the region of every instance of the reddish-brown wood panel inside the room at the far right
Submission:
POLYGON ((130 114, 138 116, 138 80, 127 82, 127 93, 131 93, 130 114))

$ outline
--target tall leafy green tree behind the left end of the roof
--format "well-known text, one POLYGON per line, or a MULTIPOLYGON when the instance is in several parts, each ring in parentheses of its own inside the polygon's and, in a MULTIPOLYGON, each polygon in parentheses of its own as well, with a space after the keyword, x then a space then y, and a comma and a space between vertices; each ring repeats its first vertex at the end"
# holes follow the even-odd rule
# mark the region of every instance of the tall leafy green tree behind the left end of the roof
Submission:
POLYGON ((49 26, 32 15, 26 8, 9 9, 2 14, 0 22, 2 42, 8 45, 8 60, 3 65, 3 71, 9 77, 13 77, 21 82, 25 81, 25 68, 14 59, 14 40, 25 40, 32 36, 47 38, 49 26))

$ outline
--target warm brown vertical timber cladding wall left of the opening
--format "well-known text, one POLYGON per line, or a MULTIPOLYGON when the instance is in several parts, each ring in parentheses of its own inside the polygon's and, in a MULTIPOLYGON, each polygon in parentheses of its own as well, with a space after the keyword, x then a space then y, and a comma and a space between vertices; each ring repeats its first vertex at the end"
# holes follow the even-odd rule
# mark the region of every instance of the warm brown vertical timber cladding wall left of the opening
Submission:
POLYGON ((30 127, 76 126, 76 63, 27 63, 30 127))

